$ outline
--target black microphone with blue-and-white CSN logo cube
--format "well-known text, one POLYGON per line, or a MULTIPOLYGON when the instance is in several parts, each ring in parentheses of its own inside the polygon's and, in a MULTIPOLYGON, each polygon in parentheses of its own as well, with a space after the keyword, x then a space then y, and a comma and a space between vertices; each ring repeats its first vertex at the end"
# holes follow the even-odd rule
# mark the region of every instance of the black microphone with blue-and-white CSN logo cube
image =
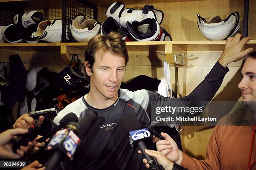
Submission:
POLYGON ((146 127, 146 128, 140 129, 142 127, 141 123, 133 114, 126 114, 125 116, 123 116, 123 118, 120 120, 119 125, 125 134, 129 134, 128 137, 129 137, 129 142, 131 147, 132 148, 138 147, 141 150, 142 155, 146 158, 146 160, 148 160, 149 169, 162 170, 163 168, 161 167, 161 165, 158 165, 156 163, 156 160, 154 160, 151 156, 149 156, 145 152, 147 147, 146 147, 146 144, 143 142, 143 140, 146 140, 152 137, 148 128, 146 127), (131 126, 131 124, 133 126, 131 126))

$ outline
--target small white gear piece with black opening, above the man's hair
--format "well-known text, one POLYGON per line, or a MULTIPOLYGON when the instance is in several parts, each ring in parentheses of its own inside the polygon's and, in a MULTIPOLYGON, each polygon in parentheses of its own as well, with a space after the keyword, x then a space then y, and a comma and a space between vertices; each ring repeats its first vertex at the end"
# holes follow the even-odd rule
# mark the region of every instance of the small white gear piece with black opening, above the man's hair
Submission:
POLYGON ((121 3, 119 1, 118 2, 114 2, 106 10, 106 16, 107 17, 112 17, 117 22, 119 22, 119 18, 121 17, 121 14, 123 12, 124 7, 125 7, 124 3, 121 3))

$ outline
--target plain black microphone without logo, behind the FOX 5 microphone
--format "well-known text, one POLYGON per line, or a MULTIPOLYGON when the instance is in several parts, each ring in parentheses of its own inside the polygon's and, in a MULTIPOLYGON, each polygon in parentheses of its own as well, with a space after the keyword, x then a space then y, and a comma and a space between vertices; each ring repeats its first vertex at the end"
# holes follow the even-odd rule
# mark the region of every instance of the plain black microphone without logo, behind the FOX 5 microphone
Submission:
POLYGON ((37 142, 44 142, 47 138, 51 137, 53 134, 55 134, 58 130, 66 127, 66 125, 69 122, 77 122, 78 118, 77 115, 74 113, 68 113, 66 116, 64 116, 61 121, 59 121, 59 126, 55 127, 54 129, 51 130, 48 134, 44 135, 43 137, 40 137, 37 142))

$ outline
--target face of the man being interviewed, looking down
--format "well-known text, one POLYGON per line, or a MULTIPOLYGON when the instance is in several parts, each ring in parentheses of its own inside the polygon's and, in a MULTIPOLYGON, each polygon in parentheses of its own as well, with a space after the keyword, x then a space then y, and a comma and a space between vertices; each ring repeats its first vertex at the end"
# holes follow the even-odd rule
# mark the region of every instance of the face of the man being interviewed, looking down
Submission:
POLYGON ((87 74, 91 76, 90 92, 100 99, 117 99, 125 72, 125 58, 108 51, 97 51, 92 70, 93 73, 87 69, 87 74))

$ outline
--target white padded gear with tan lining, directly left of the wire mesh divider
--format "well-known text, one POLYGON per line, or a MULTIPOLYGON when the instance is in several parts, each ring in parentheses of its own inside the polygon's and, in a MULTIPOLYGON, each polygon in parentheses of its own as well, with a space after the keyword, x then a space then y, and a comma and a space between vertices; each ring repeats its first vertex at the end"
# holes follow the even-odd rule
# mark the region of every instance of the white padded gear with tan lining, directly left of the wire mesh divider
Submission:
POLYGON ((38 24, 37 31, 31 36, 50 43, 61 42, 62 20, 44 20, 38 24))

